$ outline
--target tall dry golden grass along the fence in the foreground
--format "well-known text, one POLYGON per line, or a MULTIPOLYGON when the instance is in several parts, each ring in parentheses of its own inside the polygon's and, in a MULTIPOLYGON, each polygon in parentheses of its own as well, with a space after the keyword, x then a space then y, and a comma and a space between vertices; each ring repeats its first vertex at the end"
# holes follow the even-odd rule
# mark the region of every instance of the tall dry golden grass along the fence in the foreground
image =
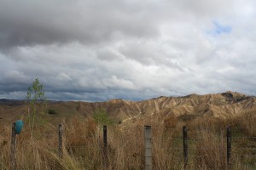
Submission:
MULTIPOLYGON (((38 127, 31 140, 28 127, 17 136, 17 169, 143 169, 144 144, 143 124, 136 127, 108 127, 108 153, 102 152, 102 127, 92 119, 81 121, 74 118, 63 122, 64 150, 58 155, 57 125, 45 124, 38 127), (107 167, 106 167, 107 166, 107 167)), ((247 111, 243 116, 220 120, 198 117, 188 122, 179 122, 173 117, 161 122, 152 122, 152 156, 154 169, 183 169, 182 127, 189 128, 189 164, 187 169, 228 169, 226 163, 225 127, 237 127, 234 136, 255 137, 255 114, 247 111)), ((10 169, 10 128, 0 127, 0 169, 10 169)), ((253 154, 255 139, 232 140, 232 169, 255 169, 253 154), (250 150, 252 148, 252 150, 250 150)), ((255 154, 255 153, 254 153, 255 154)))

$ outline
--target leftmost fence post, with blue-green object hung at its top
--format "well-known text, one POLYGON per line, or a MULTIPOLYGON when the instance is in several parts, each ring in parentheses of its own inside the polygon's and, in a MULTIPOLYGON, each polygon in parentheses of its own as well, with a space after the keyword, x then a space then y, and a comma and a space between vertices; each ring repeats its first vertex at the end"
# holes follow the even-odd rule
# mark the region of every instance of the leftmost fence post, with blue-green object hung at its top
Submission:
POLYGON ((16 133, 15 133, 16 123, 12 124, 12 137, 11 137, 11 169, 16 169, 16 133))

